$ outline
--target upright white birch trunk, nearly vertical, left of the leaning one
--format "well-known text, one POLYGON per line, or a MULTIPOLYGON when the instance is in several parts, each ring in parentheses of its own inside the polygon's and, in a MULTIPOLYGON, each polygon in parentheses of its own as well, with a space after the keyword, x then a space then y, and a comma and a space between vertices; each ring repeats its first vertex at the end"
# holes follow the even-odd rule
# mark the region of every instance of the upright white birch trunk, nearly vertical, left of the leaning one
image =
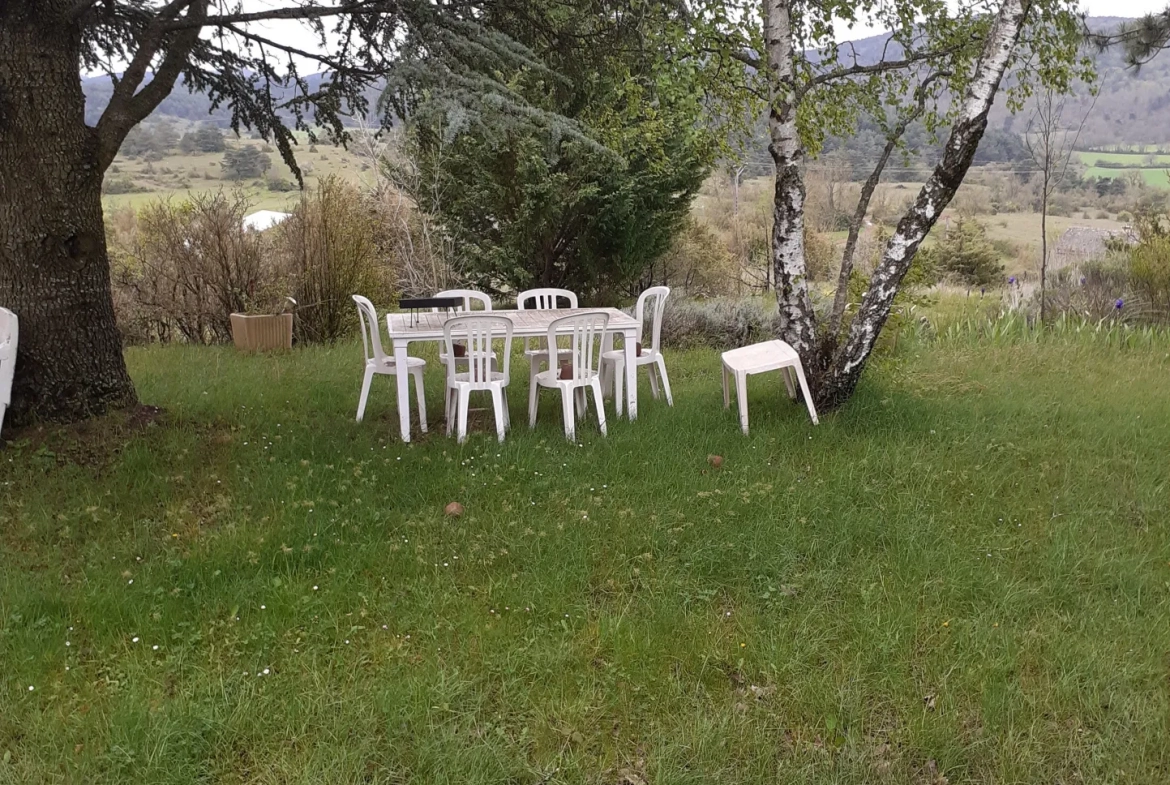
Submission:
MULTIPOLYGON (((772 200, 772 269, 780 309, 780 338, 805 359, 817 346, 817 323, 808 297, 804 254, 804 145, 797 132, 792 14, 789 0, 764 5, 764 44, 772 73, 772 105, 768 116, 769 151, 776 164, 772 200)), ((810 384, 819 373, 812 370, 810 384)))

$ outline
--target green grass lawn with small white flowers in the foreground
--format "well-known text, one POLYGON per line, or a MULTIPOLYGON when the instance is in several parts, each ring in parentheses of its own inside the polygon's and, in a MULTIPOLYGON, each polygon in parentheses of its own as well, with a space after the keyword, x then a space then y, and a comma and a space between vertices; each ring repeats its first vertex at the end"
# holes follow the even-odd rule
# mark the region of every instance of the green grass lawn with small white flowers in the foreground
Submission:
POLYGON ((749 438, 672 353, 579 445, 514 366, 462 447, 358 354, 133 349, 165 418, 0 450, 0 781, 1170 777, 1170 347, 903 343, 749 438))

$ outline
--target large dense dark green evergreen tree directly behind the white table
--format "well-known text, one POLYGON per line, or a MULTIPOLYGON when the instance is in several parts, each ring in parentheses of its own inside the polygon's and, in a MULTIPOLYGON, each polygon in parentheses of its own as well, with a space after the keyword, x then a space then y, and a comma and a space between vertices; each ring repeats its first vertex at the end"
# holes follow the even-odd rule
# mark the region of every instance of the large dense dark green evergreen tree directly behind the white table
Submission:
MULTIPOLYGON (((714 140, 691 68, 647 51, 579 7, 538 6, 539 33, 501 9, 491 23, 567 77, 517 71, 523 99, 571 120, 549 126, 511 105, 414 105, 412 193, 487 291, 534 285, 586 298, 625 289, 669 247, 711 164, 714 140)), ((438 88, 436 88, 438 90, 438 88)))

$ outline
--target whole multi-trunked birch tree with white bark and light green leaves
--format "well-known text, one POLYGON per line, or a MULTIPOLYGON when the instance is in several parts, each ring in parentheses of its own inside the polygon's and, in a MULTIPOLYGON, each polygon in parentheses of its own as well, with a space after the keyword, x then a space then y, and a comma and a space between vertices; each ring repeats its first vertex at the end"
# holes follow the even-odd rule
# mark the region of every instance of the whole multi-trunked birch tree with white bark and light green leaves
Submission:
MULTIPOLYGON (((721 5, 723 16, 708 7, 707 19, 722 22, 727 56, 759 74, 745 89, 768 104, 780 338, 799 352, 817 406, 834 408, 853 394, 915 252, 963 181, 1009 69, 1016 77, 1009 96, 1013 105, 1035 84, 1062 91, 1073 73, 1087 75, 1087 61, 1078 56, 1075 4, 975 0, 951 7, 929 0, 765 0, 755 16, 750 5, 735 4, 734 12, 727 11, 729 4, 721 5), (749 29, 750 20, 758 22, 758 34, 749 29), (866 57, 838 42, 859 22, 889 30, 881 51, 866 57), (757 51, 763 57, 751 54, 757 51), (805 160, 826 133, 847 132, 862 111, 900 118, 862 190, 862 202, 904 131, 902 122, 923 117, 928 125, 950 130, 941 160, 886 245, 853 318, 844 324, 851 249, 842 260, 834 305, 821 323, 804 254, 805 160)), ((851 225, 863 221, 865 208, 859 205, 851 225)))

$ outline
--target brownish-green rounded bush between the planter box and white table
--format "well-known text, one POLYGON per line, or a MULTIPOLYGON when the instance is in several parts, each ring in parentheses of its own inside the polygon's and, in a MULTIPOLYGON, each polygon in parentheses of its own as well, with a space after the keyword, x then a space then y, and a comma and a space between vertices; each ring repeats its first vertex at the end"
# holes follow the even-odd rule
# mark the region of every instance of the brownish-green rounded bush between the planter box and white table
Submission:
POLYGON ((393 297, 387 228, 370 197, 331 177, 275 229, 300 303, 298 340, 332 342, 351 332, 358 325, 351 295, 374 303, 393 297))

